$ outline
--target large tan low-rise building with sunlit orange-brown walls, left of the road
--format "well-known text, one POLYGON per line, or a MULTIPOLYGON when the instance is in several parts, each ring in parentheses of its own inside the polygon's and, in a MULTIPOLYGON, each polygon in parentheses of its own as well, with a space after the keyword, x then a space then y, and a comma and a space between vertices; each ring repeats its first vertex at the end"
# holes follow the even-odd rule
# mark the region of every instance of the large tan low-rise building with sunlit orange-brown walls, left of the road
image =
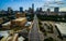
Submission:
POLYGON ((11 20, 12 26, 24 26, 26 23, 26 17, 19 17, 16 19, 11 20))

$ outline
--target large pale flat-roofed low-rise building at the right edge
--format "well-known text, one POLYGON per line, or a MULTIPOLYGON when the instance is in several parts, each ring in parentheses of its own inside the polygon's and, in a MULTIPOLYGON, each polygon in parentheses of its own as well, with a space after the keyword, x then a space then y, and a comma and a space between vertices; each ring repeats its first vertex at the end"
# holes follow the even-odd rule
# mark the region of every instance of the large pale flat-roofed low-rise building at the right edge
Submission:
POLYGON ((63 38, 66 38, 66 23, 55 24, 57 26, 57 30, 59 31, 63 38))

